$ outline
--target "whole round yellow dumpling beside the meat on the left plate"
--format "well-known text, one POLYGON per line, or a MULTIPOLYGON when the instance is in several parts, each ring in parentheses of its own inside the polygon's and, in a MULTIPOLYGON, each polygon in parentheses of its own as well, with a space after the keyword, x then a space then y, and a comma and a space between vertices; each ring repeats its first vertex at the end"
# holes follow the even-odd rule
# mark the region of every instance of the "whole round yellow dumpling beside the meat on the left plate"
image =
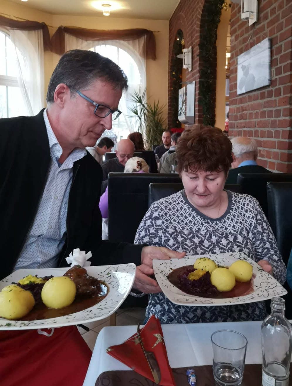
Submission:
POLYGON ((76 285, 67 276, 56 276, 44 284, 41 295, 48 308, 63 308, 73 303, 76 285))

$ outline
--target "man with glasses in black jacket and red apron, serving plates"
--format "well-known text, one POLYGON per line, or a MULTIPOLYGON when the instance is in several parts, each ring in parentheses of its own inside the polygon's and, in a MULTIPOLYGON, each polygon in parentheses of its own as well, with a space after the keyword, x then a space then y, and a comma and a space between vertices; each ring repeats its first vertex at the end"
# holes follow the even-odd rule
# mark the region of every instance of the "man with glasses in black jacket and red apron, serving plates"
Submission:
MULTIPOLYGON (((110 59, 68 51, 51 76, 47 108, 35 117, 0 119, 0 279, 20 268, 68 267, 65 258, 79 248, 91 251, 93 266, 134 262, 134 288, 159 292, 148 276, 154 272, 152 259, 184 256, 163 247, 101 240, 103 173, 86 147, 111 129, 127 87, 127 77, 110 59)), ((0 331, 1 384, 83 383, 91 350, 77 328, 43 333, 0 331)))

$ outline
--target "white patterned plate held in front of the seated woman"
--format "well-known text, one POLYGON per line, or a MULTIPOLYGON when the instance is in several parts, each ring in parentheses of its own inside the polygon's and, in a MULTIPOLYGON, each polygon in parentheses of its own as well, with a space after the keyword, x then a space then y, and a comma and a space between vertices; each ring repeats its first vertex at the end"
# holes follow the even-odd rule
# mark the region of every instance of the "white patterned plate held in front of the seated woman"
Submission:
POLYGON ((276 279, 265 272, 255 261, 249 259, 244 253, 232 252, 212 255, 186 256, 183 259, 153 260, 155 278, 164 295, 174 304, 182 306, 223 306, 228 304, 253 303, 271 299, 274 296, 282 296, 287 293, 285 288, 276 279), (203 298, 201 296, 188 295, 167 279, 172 269, 194 264, 199 257, 209 257, 220 266, 230 266, 236 260, 246 260, 253 266, 253 292, 249 295, 236 296, 234 298, 203 298))

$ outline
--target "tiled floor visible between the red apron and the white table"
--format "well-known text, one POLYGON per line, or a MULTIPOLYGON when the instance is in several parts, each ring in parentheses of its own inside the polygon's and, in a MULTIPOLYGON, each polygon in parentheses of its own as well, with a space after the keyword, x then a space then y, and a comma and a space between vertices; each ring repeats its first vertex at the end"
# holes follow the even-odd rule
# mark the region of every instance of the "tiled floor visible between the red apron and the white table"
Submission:
MULTIPOLYGON (((138 325, 138 323, 142 323, 144 319, 145 308, 122 308, 116 312, 117 326, 138 325)), ((86 331, 81 327, 78 327, 78 330, 88 344, 88 347, 93 350, 98 333, 103 327, 110 325, 110 318, 86 323, 84 325, 90 328, 90 330, 86 331)))

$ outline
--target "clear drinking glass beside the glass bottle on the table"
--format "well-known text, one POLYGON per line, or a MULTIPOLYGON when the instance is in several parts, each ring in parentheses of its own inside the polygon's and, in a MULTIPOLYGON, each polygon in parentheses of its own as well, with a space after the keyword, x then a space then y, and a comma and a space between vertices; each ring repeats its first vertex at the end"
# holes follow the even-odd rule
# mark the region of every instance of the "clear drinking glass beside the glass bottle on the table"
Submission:
POLYGON ((243 378, 247 339, 231 330, 219 330, 211 335, 213 374, 217 386, 237 386, 243 378))

